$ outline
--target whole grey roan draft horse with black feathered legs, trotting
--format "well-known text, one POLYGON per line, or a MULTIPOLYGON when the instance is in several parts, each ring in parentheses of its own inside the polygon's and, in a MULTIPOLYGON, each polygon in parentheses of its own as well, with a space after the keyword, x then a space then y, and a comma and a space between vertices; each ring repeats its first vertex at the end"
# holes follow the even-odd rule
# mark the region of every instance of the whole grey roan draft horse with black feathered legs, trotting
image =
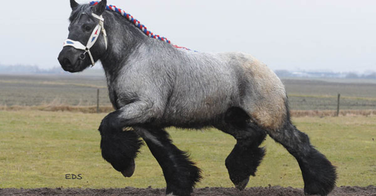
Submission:
POLYGON ((164 128, 215 127, 237 140, 225 164, 238 189, 255 175, 267 134, 296 158, 305 193, 326 195, 333 189, 335 167, 291 123, 284 85, 265 64, 248 54, 201 53, 150 38, 121 14, 106 10, 106 0, 70 3, 68 41, 58 60, 69 72, 102 62, 116 110, 100 124, 100 148, 114 169, 132 176, 142 138, 162 167, 166 194, 190 195, 200 169, 164 128), (102 28, 95 38, 100 18, 106 32, 102 28), (87 50, 89 38, 97 41, 87 50), (77 44, 84 47, 77 49, 77 44))

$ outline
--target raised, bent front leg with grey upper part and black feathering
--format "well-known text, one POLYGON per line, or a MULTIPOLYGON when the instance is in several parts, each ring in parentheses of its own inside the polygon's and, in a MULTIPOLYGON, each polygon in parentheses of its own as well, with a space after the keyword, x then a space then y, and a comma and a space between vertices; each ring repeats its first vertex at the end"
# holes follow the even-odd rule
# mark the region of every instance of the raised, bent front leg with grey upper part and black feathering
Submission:
POLYGON ((102 157, 126 177, 133 175, 134 159, 142 141, 135 131, 124 128, 150 121, 155 111, 153 106, 146 101, 128 104, 109 113, 100 124, 102 157))

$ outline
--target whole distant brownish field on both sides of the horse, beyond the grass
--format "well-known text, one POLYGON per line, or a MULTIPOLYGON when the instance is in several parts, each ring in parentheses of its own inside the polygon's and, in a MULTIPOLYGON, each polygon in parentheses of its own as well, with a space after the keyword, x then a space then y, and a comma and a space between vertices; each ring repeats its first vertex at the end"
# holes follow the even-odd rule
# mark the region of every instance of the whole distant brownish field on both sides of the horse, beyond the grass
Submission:
MULTIPOLYGON (((376 109, 376 80, 282 79, 282 81, 286 86, 292 110, 335 110, 338 93, 341 93, 341 109, 376 109)), ((100 89, 100 105, 110 106, 104 76, 0 75, 0 105, 94 106, 97 100, 97 88, 100 89)))

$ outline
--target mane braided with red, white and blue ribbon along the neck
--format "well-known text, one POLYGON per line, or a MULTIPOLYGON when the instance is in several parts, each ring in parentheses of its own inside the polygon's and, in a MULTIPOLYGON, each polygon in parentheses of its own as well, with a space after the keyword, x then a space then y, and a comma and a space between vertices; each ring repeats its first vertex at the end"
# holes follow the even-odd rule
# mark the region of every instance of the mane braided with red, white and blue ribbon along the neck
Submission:
MULTIPOLYGON (((99 1, 92 1, 90 2, 89 4, 91 6, 94 6, 94 5, 97 5, 99 3, 99 1)), ((191 50, 189 48, 186 48, 186 47, 180 47, 178 45, 174 45, 171 43, 170 40, 168 40, 167 38, 165 37, 161 37, 159 35, 155 35, 154 33, 152 33, 151 31, 147 30, 146 26, 141 24, 137 19, 133 18, 132 15, 124 12, 124 10, 120 9, 120 8, 117 8, 116 6, 113 6, 113 5, 107 5, 106 6, 106 10, 108 11, 112 11, 112 12, 116 12, 118 14, 120 14, 121 16, 125 17, 127 20, 129 20, 133 25, 135 25, 138 29, 140 29, 146 36, 149 36, 150 38, 154 38, 154 39, 159 39, 161 41, 164 41, 168 44, 171 44, 173 47, 175 48, 183 48, 183 49, 186 49, 186 50, 191 50)))

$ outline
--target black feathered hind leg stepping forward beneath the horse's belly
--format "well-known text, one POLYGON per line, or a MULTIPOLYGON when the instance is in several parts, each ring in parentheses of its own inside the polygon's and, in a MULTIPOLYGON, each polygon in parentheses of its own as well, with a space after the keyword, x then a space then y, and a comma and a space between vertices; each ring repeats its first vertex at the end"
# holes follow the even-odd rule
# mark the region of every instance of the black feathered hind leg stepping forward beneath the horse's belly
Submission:
POLYGON ((266 132, 258 127, 250 127, 249 116, 240 108, 227 110, 222 122, 216 128, 235 137, 236 145, 226 158, 226 168, 235 187, 243 190, 249 176, 255 172, 265 155, 259 145, 264 141, 266 132))

